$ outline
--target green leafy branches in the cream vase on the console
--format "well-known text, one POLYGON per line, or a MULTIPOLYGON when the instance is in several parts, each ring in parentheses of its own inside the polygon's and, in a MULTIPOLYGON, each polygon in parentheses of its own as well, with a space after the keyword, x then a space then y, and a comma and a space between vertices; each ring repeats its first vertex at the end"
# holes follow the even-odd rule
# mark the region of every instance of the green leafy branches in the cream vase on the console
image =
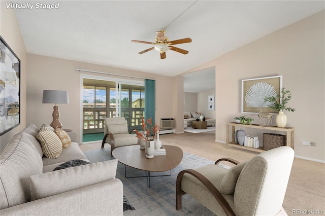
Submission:
POLYGON ((284 87, 282 87, 280 94, 278 94, 277 96, 265 97, 264 101, 273 102, 272 105, 269 105, 269 108, 278 112, 283 112, 284 110, 289 112, 295 112, 295 108, 286 107, 286 104, 291 98, 292 97, 290 91, 285 90, 284 87))

